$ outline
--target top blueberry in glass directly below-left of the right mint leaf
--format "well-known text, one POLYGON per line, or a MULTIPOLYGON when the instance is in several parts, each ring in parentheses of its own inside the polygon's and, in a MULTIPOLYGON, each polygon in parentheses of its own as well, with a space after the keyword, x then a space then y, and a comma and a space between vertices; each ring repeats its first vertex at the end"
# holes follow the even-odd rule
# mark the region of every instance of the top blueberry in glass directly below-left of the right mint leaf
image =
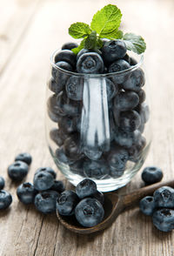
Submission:
POLYGON ((104 63, 110 64, 119 58, 123 58, 126 51, 126 45, 123 40, 110 40, 106 42, 102 49, 104 63))

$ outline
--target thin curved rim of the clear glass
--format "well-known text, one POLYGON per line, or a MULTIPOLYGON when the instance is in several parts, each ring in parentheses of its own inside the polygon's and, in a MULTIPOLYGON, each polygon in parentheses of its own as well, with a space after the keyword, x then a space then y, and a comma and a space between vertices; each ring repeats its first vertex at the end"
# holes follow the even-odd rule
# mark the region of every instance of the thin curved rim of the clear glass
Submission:
MULTIPOLYGON (((50 55, 50 64, 52 67, 54 67, 55 69, 65 73, 65 74, 69 74, 71 76, 77 76, 77 77, 112 77, 112 76, 120 76, 120 75, 124 75, 126 73, 131 73, 132 71, 136 71, 144 62, 144 54, 140 54, 140 59, 137 62, 137 64, 132 65, 131 68, 124 70, 124 71, 117 71, 117 72, 112 72, 112 73, 102 73, 102 74, 86 74, 86 73, 77 73, 77 72, 72 72, 72 71, 65 71, 64 69, 61 69, 60 67, 57 66, 57 64, 54 62, 55 56, 57 54, 58 51, 61 51, 61 49, 58 49, 56 51, 54 51, 51 55, 50 55)), ((138 54, 137 54, 138 56, 138 54)))

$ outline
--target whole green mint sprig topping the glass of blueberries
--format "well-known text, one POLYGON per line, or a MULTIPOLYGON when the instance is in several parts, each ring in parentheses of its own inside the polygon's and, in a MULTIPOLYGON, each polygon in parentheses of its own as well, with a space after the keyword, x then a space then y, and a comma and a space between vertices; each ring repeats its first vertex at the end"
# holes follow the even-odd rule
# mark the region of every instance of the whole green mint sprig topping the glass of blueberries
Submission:
POLYGON ((69 34, 75 39, 83 38, 81 44, 72 49, 74 53, 78 53, 83 48, 98 51, 103 47, 102 38, 123 39, 126 47, 130 51, 140 54, 145 51, 146 45, 143 37, 127 33, 124 35, 119 30, 121 24, 122 13, 116 5, 108 4, 102 10, 98 10, 93 16, 89 24, 75 23, 71 24, 69 34))

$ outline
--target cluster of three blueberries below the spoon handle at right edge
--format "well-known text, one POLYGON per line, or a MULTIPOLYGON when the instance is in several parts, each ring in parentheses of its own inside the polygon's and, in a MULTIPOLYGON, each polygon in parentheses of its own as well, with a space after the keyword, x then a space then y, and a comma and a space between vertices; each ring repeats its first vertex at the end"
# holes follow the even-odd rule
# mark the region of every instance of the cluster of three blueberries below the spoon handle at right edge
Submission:
POLYGON ((141 199, 140 210, 145 215, 152 216, 154 226, 163 232, 174 229, 174 189, 162 186, 157 189, 153 196, 141 199))

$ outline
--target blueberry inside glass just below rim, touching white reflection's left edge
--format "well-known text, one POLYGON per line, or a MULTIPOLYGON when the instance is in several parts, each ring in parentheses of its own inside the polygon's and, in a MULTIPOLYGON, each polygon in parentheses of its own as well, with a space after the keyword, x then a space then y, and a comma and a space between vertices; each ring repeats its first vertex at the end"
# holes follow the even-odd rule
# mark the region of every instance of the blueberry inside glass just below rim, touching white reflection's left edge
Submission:
POLYGON ((68 98, 82 100, 84 90, 84 78, 71 76, 66 83, 66 93, 68 98))

